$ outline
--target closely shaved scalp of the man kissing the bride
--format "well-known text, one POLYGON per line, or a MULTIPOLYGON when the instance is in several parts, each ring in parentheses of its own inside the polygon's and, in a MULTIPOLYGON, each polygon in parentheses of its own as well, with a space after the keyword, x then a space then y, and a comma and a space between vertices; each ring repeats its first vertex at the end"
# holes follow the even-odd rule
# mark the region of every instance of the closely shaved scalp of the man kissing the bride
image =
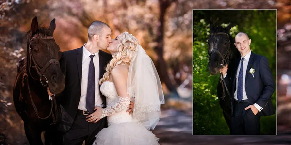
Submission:
POLYGON ((92 22, 88 28, 88 39, 92 39, 94 34, 102 36, 102 29, 104 27, 109 27, 109 25, 101 21, 92 22))

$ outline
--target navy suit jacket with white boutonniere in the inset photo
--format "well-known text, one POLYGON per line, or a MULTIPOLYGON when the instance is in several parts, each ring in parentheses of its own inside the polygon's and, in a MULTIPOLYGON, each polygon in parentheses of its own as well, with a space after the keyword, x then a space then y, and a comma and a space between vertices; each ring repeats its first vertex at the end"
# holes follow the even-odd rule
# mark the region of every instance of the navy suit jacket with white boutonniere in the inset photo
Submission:
MULTIPOLYGON (((236 73, 239 66, 241 58, 239 57, 235 60, 231 74, 225 78, 226 84, 232 85, 232 104, 231 104, 231 115, 233 115, 233 104, 234 104, 234 92, 236 89, 236 73)), ((228 71, 227 71, 228 72, 228 71)), ((273 104, 271 102, 271 96, 275 91, 275 82, 269 67, 268 59, 264 56, 257 55, 251 52, 251 56, 247 65, 245 75, 245 91, 248 100, 251 104, 257 103, 263 108, 261 112, 258 112, 259 116, 270 116, 275 114, 273 104), (251 66, 256 70, 254 73, 254 78, 249 70, 251 66)))

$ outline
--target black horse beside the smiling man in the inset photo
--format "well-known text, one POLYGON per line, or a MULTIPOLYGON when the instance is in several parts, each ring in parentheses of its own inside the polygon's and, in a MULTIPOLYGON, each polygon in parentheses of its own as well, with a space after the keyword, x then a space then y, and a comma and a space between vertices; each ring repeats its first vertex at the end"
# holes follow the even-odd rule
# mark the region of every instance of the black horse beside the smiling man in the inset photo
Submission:
MULTIPOLYGON (((214 26, 210 21, 210 35, 208 38, 208 68, 211 75, 216 75, 219 69, 228 64, 227 75, 230 76, 234 72, 233 60, 240 56, 239 51, 235 47, 234 39, 229 34, 231 23, 226 28, 222 26, 214 26)), ((231 90, 230 82, 225 82, 221 77, 217 85, 217 96, 219 98, 220 107, 223 110, 226 123, 230 128, 231 121, 231 90)))

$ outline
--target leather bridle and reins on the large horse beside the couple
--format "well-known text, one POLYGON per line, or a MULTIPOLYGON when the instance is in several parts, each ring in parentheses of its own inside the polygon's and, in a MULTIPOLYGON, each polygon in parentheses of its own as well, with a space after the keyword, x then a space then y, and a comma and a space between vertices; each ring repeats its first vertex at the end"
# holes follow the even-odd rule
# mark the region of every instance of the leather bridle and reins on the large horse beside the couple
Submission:
MULTIPOLYGON (((27 62, 27 65, 29 65, 28 67, 28 71, 29 71, 29 74, 30 74, 30 76, 34 79, 34 80, 39 80, 40 82, 41 82, 41 84, 42 84, 42 86, 43 87, 47 87, 48 86, 48 79, 47 79, 47 77, 44 75, 44 73, 45 73, 45 71, 47 70, 47 68, 50 66, 50 65, 52 65, 52 64, 57 64, 57 65, 59 65, 60 66, 60 64, 59 64, 59 61, 57 60, 57 59, 51 59, 51 60, 49 60, 49 62, 47 62, 42 68, 40 68, 39 67, 39 65, 36 63, 36 61, 35 61, 35 58, 33 57, 33 55, 32 55, 32 49, 31 49, 31 43, 32 43, 32 41, 34 41, 34 40, 36 40, 36 39, 50 39, 50 40, 55 40, 52 36, 43 36, 43 37, 39 37, 39 36, 35 36, 35 37, 32 37, 32 39, 30 39, 28 42, 28 62, 27 62), (34 63, 34 66, 32 66, 32 62, 34 63), (36 79, 36 78, 34 78, 33 76, 32 76, 32 73, 31 73, 31 71, 30 71, 30 68, 34 68, 35 70, 36 70, 36 72, 37 72, 37 74, 38 74, 38 76, 39 76, 39 79, 36 79), (44 81, 43 81, 43 79, 44 79, 44 81)), ((46 117, 44 117, 44 118, 42 118, 42 117, 40 117, 39 116, 39 114, 38 114, 38 110, 37 110, 37 108, 36 108, 36 106, 35 106, 35 103, 34 103, 34 101, 33 101, 33 99, 32 99, 32 95, 31 95, 31 90, 30 90, 30 87, 29 87, 29 82, 28 82, 28 78, 27 78, 27 74, 25 74, 25 80, 26 80, 26 82, 27 82, 27 87, 28 87, 28 92, 29 92, 29 95, 30 95, 30 99, 31 99, 31 102, 32 102, 32 106, 33 106, 33 108, 34 108, 34 111, 35 111, 35 114, 36 114, 36 116, 37 116, 37 118, 39 118, 39 119, 47 119, 47 118, 49 118, 49 116, 51 116, 52 115, 52 119, 53 119, 53 123, 51 123, 51 124, 56 124, 56 121, 58 120, 57 119, 57 114, 58 114, 58 108, 57 108, 57 102, 56 102, 56 99, 55 99, 55 96, 52 96, 52 102, 51 102, 51 108, 50 108, 50 113, 49 113, 49 115, 48 116, 46 116, 46 117), (52 110, 53 110, 53 105, 55 106, 55 115, 54 115, 54 113, 52 112, 52 110)))

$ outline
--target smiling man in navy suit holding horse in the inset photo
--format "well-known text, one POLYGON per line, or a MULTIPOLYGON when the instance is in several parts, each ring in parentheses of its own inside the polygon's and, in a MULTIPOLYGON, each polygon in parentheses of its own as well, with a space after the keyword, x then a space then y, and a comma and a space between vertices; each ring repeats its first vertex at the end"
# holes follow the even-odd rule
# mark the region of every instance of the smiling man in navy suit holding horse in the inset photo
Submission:
MULTIPOLYGON (((241 53, 231 74, 227 67, 220 70, 226 84, 233 85, 231 109, 231 134, 259 134, 260 116, 275 114, 271 96, 275 82, 268 59, 250 50, 251 39, 244 32, 235 37, 235 46, 241 53)), ((231 88, 231 87, 230 87, 231 88)))

